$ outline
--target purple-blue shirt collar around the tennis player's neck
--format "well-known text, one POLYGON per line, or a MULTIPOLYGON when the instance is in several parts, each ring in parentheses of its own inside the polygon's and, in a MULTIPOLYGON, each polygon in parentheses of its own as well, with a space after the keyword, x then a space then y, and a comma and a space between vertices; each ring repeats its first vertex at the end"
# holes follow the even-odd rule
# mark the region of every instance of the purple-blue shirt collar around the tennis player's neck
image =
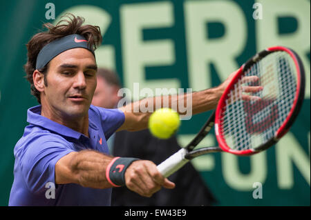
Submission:
MULTIPOLYGON (((72 137, 74 139, 79 139, 81 136, 86 137, 84 134, 77 132, 71 128, 61 125, 55 121, 48 119, 41 115, 41 105, 29 108, 27 111, 27 122, 61 134, 62 136, 72 137)), ((92 127, 94 126, 91 121, 89 122, 92 127)), ((86 137, 87 138, 87 137, 86 137)))

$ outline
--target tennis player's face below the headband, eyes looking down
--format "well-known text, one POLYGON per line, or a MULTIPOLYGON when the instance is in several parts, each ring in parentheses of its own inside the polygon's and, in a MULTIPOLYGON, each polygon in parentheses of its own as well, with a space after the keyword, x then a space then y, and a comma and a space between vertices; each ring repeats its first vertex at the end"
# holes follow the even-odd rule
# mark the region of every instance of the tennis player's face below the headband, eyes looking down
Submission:
POLYGON ((95 58, 84 48, 57 55, 50 61, 42 107, 60 119, 86 116, 96 88, 96 72, 95 58))

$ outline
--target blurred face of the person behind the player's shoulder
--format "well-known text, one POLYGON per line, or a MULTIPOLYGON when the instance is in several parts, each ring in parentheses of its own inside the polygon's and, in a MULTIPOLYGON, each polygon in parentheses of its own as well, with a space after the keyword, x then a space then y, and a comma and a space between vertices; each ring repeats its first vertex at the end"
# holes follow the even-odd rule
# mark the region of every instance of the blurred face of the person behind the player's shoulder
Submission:
POLYGON ((97 87, 94 92, 92 105, 102 108, 117 108, 117 102, 121 97, 117 97, 120 88, 106 82, 103 77, 97 76, 97 87))

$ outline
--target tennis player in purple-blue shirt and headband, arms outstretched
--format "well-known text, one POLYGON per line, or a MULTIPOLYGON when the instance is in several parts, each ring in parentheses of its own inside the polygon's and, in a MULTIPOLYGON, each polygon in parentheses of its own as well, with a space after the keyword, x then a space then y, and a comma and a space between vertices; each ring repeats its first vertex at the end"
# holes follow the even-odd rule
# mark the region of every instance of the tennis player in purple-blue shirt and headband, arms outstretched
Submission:
MULTIPOLYGON (((28 109, 29 125, 15 146, 9 206, 110 206, 113 187, 151 197, 175 186, 151 161, 109 156, 111 134, 147 128, 151 112, 133 112, 139 101, 114 110, 91 106, 102 37, 83 23, 70 14, 56 26, 46 23, 27 44, 24 67, 40 105, 28 109), (54 197, 47 196, 50 186, 54 197)), ((194 92, 193 113, 216 108, 225 83, 194 92)))

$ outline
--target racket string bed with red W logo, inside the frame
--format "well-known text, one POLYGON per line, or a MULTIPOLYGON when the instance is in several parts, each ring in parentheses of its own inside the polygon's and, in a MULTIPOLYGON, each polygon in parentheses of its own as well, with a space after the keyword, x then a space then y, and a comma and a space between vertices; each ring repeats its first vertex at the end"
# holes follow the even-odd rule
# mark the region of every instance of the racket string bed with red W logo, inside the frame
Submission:
POLYGON ((220 124, 227 146, 234 150, 256 149, 274 137, 296 97, 295 72, 288 53, 273 52, 254 63, 238 79, 227 94, 220 124), (259 80, 245 80, 251 76, 259 80), (263 90, 245 93, 245 86, 263 86, 263 90), (261 99, 245 100, 245 94, 261 99))

